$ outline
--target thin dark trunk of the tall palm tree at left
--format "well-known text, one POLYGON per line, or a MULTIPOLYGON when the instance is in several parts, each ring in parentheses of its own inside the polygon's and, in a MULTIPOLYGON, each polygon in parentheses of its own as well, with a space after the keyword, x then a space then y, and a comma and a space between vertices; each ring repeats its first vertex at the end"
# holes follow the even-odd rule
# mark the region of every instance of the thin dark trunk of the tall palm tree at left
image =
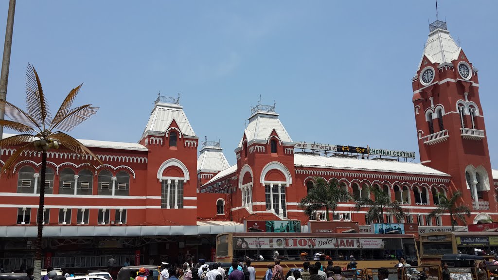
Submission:
POLYGON ((45 172, 47 170, 47 153, 42 151, 41 153, 41 170, 40 170, 40 205, 38 206, 38 235, 36 237, 36 253, 34 260, 34 280, 41 279, 41 246, 42 246, 42 233, 43 233, 43 208, 45 205, 45 172))

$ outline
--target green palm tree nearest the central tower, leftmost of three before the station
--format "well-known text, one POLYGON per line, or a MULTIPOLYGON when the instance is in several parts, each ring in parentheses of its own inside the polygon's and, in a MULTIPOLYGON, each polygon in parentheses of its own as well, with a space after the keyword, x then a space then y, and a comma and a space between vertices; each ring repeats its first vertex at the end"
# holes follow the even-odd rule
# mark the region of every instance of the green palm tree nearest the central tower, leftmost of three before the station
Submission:
POLYGON ((313 188, 308 190, 308 194, 297 205, 308 216, 312 216, 317 210, 325 208, 327 221, 330 221, 329 210, 334 213, 338 202, 351 199, 353 196, 347 190, 340 188, 336 180, 327 182, 324 178, 315 177, 313 188))

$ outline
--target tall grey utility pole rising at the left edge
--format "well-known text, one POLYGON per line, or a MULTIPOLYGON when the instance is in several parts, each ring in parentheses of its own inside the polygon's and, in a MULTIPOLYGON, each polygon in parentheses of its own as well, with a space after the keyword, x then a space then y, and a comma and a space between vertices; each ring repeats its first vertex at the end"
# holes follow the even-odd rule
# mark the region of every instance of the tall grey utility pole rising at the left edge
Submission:
MULTIPOLYGON (((8 3, 7 28, 5 29, 5 44, 0 74, 0 100, 7 98, 8 67, 10 65, 10 50, 12 49, 12 31, 14 29, 15 0, 8 3)), ((5 118, 5 110, 0 108, 0 120, 5 118)), ((0 139, 3 138, 3 127, 0 127, 0 139)))

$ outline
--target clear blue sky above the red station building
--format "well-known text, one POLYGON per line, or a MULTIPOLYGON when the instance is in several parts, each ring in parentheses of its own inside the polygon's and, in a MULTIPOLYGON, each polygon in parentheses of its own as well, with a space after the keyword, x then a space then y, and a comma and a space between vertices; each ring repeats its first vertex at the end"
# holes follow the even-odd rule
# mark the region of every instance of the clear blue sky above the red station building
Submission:
MULTIPOLYGON (((498 1, 438 4, 479 68, 498 168, 498 1)), ((2 42, 7 6, 0 2, 2 42)), ((157 92, 181 92, 196 134, 221 139, 233 164, 261 95, 276 102, 294 141, 418 155, 411 78, 433 20, 434 0, 18 0, 7 100, 24 108, 29 62, 53 111, 85 83, 76 104, 101 109, 73 131, 80 139, 136 142, 157 92)))

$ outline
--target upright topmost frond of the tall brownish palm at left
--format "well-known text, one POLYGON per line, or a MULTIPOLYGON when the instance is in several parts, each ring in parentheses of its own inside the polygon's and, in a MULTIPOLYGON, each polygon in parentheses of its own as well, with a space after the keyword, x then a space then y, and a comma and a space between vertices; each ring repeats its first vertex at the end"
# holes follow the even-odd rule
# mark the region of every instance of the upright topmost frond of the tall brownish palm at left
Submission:
POLYGON ((34 66, 28 64, 26 69, 26 111, 42 126, 50 118, 50 109, 45 100, 40 78, 34 66))

